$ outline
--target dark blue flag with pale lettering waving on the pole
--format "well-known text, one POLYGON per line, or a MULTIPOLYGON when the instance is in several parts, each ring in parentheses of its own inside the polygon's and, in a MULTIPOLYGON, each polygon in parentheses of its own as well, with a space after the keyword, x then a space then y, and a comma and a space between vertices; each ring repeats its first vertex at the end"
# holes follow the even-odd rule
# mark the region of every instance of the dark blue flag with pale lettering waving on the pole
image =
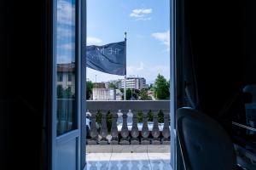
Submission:
POLYGON ((86 47, 86 66, 96 71, 124 76, 126 74, 125 41, 86 47))

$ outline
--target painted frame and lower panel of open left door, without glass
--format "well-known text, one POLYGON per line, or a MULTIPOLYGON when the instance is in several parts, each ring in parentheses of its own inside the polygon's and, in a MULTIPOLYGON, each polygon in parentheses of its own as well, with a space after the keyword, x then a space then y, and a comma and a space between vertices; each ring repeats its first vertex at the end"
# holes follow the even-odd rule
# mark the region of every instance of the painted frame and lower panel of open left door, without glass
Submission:
MULTIPOLYGON (((56 34, 57 34, 57 0, 53 0, 50 3, 52 3, 51 11, 52 11, 52 59, 51 59, 51 135, 50 135, 50 167, 52 170, 58 170, 58 167, 63 164, 68 164, 69 159, 69 153, 67 153, 66 150, 72 150, 73 155, 75 158, 73 158, 73 161, 71 162, 75 169, 83 169, 85 167, 85 153, 84 156, 81 154, 81 150, 85 148, 85 145, 83 146, 82 137, 84 135, 82 130, 83 125, 83 116, 81 113, 85 111, 85 105, 86 103, 86 94, 83 93, 84 83, 82 80, 82 77, 85 75, 86 72, 83 70, 83 59, 81 57, 81 0, 75 0, 75 17, 76 17, 76 23, 75 23, 75 67, 76 67, 76 78, 75 78, 75 98, 76 98, 76 123, 77 123, 77 129, 74 129, 68 133, 64 133, 60 136, 57 136, 57 129, 56 129, 56 122, 57 122, 57 93, 56 93, 56 80, 57 80, 57 56, 56 56, 56 34), (85 96, 85 101, 84 101, 85 96), (64 153, 64 154, 63 154, 64 153), (65 155, 66 154, 66 155, 65 155), (65 157, 66 156, 66 157, 65 157), (84 159, 84 161, 83 161, 84 159), (67 160, 67 162, 63 162, 63 160, 67 160)), ((86 77, 85 77, 86 80, 86 77)), ((70 156, 73 156, 72 154, 70 156)), ((65 168, 65 166, 64 166, 65 168)))

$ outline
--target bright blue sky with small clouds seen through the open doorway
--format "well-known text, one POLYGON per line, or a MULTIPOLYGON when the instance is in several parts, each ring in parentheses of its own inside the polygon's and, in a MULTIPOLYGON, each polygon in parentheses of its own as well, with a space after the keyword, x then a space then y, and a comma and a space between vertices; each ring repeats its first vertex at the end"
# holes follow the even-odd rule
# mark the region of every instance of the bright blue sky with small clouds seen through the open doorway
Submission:
MULTIPOLYGON (((87 45, 123 41, 126 31, 127 77, 152 83, 160 73, 169 79, 169 10, 169 0, 87 0, 87 45)), ((123 77, 87 68, 87 78, 106 82, 123 77)))

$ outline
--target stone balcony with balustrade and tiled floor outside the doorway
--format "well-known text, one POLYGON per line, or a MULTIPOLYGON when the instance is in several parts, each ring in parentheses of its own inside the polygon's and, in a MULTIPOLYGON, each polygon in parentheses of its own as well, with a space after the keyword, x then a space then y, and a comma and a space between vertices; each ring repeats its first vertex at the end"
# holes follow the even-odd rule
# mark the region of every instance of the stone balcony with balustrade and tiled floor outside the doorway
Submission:
POLYGON ((170 101, 87 101, 87 169, 171 169, 170 101))

